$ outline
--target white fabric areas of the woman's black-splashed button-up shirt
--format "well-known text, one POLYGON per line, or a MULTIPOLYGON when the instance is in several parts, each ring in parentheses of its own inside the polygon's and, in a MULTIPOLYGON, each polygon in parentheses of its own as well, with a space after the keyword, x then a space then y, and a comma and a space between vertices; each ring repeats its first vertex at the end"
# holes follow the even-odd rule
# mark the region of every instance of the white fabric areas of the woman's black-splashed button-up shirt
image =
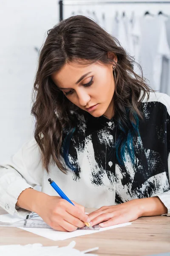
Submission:
MULTIPOLYGON (((150 93, 150 99, 144 99, 142 104, 147 124, 150 115, 152 116, 152 110, 150 111, 151 106, 153 106, 153 111, 156 111, 156 122, 159 121, 158 112, 159 110, 161 111, 161 109, 170 116, 170 97, 166 94, 150 93)), ((162 112, 160 112, 160 114, 162 116, 162 112)), ((163 124, 160 125, 160 127, 163 127, 163 124)), ((108 122, 106 120, 106 126, 108 127, 103 128, 103 131, 106 131, 106 133, 104 135, 103 131, 102 133, 99 133, 99 140, 101 140, 102 143, 103 140, 106 139, 108 143, 107 147, 109 147, 113 140, 113 136, 111 135, 111 132, 114 131, 114 129, 112 129, 114 128, 112 120, 108 120, 108 122)), ((161 134, 164 138, 166 138, 166 133, 170 136, 170 129, 168 131, 160 131, 153 125, 153 120, 151 120, 151 126, 147 125, 146 131, 144 131, 144 136, 145 134, 147 136, 147 133, 149 136, 146 138, 145 143, 152 137, 152 133, 149 134, 150 129, 152 128, 156 129, 156 132, 158 133, 158 142, 163 143, 166 148, 166 142, 159 140, 161 140, 161 134)), ((81 129, 81 133, 83 133, 83 124, 79 128, 81 129)), ((168 209, 167 215, 170 216, 170 190, 167 191, 170 186, 170 154, 165 161, 167 170, 162 167, 162 171, 159 172, 159 164, 162 156, 160 156, 160 152, 156 152, 153 150, 154 148, 152 148, 153 142, 155 143, 155 137, 153 137, 151 141, 151 148, 145 147, 142 151, 145 154, 145 158, 148 160, 148 165, 150 164, 150 169, 146 171, 144 176, 148 175, 148 172, 152 174, 149 174, 147 179, 143 176, 145 180, 139 188, 136 188, 137 190, 133 190, 133 196, 129 194, 129 190, 130 187, 134 186, 134 180, 131 180, 131 177, 136 175, 136 169, 134 169, 128 155, 126 155, 125 169, 123 170, 124 173, 120 166, 117 163, 115 164, 116 176, 113 176, 114 178, 112 182, 110 177, 108 178, 108 172, 114 166, 113 160, 107 160, 108 162, 105 162, 106 166, 104 166, 104 169, 102 166, 99 166, 99 163, 97 163, 94 158, 94 148, 89 138, 90 137, 86 137, 84 151, 77 151, 77 159, 81 169, 79 178, 77 178, 74 175, 74 172, 70 171, 69 168, 68 174, 65 175, 56 165, 52 164, 49 167, 49 173, 47 173, 46 170, 42 168, 41 154, 36 141, 32 139, 31 141, 26 142, 23 147, 11 157, 11 160, 0 166, 0 207, 6 209, 11 215, 16 212, 21 216, 25 216, 28 211, 17 209, 17 207, 15 207, 20 193, 27 188, 34 188, 34 186, 38 185, 41 186, 42 192, 48 195, 57 195, 56 191, 48 182, 48 178, 51 178, 51 180, 54 180, 63 190, 68 198, 85 207, 99 208, 102 206, 114 205, 116 204, 116 195, 123 201, 129 201, 131 199, 140 198, 142 193, 145 193, 146 197, 159 196, 168 209), (154 168, 156 169, 156 172, 154 171, 154 168), (126 184, 122 182, 125 178, 125 176, 123 177, 125 173, 130 177, 130 180, 128 180, 126 184), (95 182, 95 179, 98 178, 99 183, 101 184, 95 182), (150 191, 151 184, 154 186, 152 191, 150 191), (149 196, 148 193, 150 193, 149 196)), ((142 143, 144 143, 144 140, 143 142, 139 140, 139 144, 142 145, 142 143)), ((138 171, 141 172, 142 163, 139 163, 137 168, 139 169, 138 171)), ((136 182, 138 183, 138 180, 136 182)))

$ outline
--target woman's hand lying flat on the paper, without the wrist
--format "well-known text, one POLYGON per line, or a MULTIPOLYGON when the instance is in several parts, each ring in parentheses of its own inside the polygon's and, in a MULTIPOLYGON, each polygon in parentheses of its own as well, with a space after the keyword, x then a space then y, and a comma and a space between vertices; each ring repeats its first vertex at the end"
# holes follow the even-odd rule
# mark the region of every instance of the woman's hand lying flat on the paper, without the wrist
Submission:
POLYGON ((101 227, 109 227, 134 221, 141 216, 140 199, 134 199, 114 206, 103 206, 91 212, 88 216, 91 225, 100 224, 101 227))

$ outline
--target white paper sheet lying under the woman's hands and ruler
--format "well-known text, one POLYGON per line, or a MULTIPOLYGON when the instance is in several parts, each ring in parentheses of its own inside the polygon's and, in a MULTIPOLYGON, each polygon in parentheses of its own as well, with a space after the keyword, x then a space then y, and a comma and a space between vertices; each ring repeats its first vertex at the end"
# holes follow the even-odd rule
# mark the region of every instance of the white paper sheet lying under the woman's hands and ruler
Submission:
MULTIPOLYGON (((12 221, 11 217, 13 217, 13 216, 11 216, 10 214, 0 215, 0 221, 14 223, 14 221, 12 221)), ((22 220, 22 218, 20 218, 16 215, 14 215, 14 218, 15 218, 15 221, 22 220)), ((34 227, 32 227, 32 228, 18 227, 18 228, 20 228, 22 230, 26 230, 26 231, 34 233, 34 234, 37 234, 39 236, 46 237, 46 238, 54 240, 54 241, 57 241, 57 240, 65 240, 65 239, 73 238, 76 236, 84 236, 84 235, 88 235, 88 234, 92 234, 92 233, 96 233, 96 232, 110 230, 113 228, 125 227, 130 224, 132 224, 132 222, 118 224, 118 225, 114 225, 111 227, 101 227, 100 230, 75 230, 73 232, 62 232, 62 231, 57 231, 57 230, 48 229, 48 228, 34 228, 34 227)))

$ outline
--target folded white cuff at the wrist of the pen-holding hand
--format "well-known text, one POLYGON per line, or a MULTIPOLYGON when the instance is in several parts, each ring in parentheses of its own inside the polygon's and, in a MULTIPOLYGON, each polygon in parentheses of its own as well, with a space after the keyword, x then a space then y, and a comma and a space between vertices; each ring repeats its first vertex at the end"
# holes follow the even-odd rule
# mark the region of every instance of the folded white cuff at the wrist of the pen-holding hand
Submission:
MULTIPOLYGON (((22 180, 23 181, 23 180, 22 180)), ((16 213, 20 217, 26 217, 30 211, 22 209, 16 206, 17 200, 21 192, 25 189, 33 188, 28 183, 17 180, 15 183, 10 184, 6 192, 3 193, 0 199, 0 207, 6 210, 9 214, 14 215, 16 213), (7 192, 8 191, 8 192, 7 192)))

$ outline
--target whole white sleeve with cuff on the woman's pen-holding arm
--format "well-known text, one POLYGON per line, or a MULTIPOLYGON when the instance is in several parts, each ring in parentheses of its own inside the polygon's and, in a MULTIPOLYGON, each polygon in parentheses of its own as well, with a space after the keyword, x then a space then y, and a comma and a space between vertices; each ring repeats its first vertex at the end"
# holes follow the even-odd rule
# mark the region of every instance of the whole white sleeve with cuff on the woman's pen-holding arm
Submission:
POLYGON ((16 207, 23 190, 42 185, 41 154, 35 139, 26 142, 8 163, 0 165, 0 207, 11 215, 24 216, 29 211, 16 207))

